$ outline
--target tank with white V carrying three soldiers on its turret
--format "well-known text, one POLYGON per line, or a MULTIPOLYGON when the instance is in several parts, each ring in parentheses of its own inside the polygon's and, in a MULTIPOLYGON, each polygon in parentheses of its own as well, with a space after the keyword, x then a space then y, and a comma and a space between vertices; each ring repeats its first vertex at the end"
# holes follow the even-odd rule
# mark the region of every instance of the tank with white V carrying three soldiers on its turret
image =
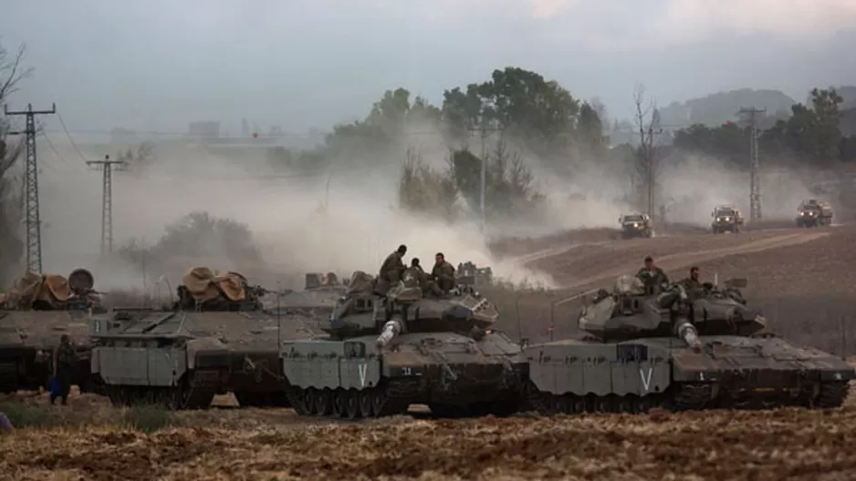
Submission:
POLYGON ((355 272, 323 326, 326 338, 282 344, 285 390, 298 414, 371 418, 410 404, 443 417, 520 409, 527 363, 493 329, 491 302, 464 285, 423 293, 430 290, 411 270, 386 296, 374 293, 375 282, 355 272))

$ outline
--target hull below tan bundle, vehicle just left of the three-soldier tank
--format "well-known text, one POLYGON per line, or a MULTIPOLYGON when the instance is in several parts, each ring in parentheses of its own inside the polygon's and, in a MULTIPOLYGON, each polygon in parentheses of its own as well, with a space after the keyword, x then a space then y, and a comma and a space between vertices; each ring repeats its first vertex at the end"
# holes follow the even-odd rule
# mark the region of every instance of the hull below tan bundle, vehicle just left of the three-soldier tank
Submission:
POLYGON ((116 405, 204 409, 231 392, 242 407, 287 407, 278 339, 311 337, 314 324, 267 312, 150 312, 94 334, 90 372, 116 405))

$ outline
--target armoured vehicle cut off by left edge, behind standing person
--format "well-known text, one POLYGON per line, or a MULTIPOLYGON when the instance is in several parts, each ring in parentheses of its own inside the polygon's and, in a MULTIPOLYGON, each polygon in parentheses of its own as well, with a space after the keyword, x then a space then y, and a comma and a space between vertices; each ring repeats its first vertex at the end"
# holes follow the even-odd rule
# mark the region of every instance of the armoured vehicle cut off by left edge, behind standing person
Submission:
POLYGON ((62 334, 71 337, 78 353, 72 384, 82 392, 97 391, 89 378, 89 320, 103 310, 94 284, 85 269, 68 278, 27 272, 0 294, 0 392, 47 389, 62 334))

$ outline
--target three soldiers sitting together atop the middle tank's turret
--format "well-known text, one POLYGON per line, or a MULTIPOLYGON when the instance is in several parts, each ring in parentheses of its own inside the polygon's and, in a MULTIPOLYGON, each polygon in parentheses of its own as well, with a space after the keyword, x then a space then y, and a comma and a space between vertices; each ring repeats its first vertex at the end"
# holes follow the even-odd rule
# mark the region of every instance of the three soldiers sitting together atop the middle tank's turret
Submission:
POLYGON ((406 266, 404 263, 404 254, 406 253, 407 246, 402 244, 383 261, 381 271, 378 274, 378 293, 386 294, 391 286, 402 281, 408 275, 419 282, 423 292, 431 292, 441 296, 454 289, 454 266, 446 261, 443 252, 437 252, 434 255, 431 274, 423 270, 417 257, 411 259, 410 267, 406 266))

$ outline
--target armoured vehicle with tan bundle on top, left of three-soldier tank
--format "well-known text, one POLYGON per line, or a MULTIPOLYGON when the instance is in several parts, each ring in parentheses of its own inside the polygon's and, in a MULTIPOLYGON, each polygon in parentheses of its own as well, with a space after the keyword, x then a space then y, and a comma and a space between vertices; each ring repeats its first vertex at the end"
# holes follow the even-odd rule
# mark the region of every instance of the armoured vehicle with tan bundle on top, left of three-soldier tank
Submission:
POLYGON ((189 271, 176 292, 169 309, 120 309, 94 323, 91 373, 113 404, 196 409, 231 392, 241 406, 287 406, 279 336, 320 334, 316 316, 339 298, 271 292, 208 268, 189 271))

